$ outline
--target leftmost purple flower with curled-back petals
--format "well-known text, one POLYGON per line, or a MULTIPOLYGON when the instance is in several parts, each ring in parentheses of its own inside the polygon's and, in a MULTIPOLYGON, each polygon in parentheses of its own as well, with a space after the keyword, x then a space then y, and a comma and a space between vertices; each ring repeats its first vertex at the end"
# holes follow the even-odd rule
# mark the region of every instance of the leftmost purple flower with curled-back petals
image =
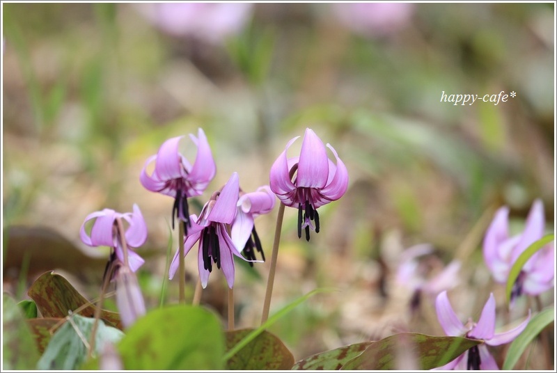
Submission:
POLYGON ((113 209, 103 209, 102 211, 93 212, 88 214, 81 229, 79 230, 81 241, 88 246, 109 246, 114 248, 116 257, 120 262, 124 263, 124 251, 122 240, 125 239, 127 244, 127 260, 132 271, 137 271, 143 265, 142 257, 130 248, 137 248, 143 245, 147 239, 147 226, 141 215, 141 210, 134 204, 134 212, 126 212, 120 214, 113 209), (130 225, 126 232, 125 237, 120 237, 116 219, 123 219, 130 225), (85 224, 96 219, 91 228, 91 236, 85 232, 85 224))

